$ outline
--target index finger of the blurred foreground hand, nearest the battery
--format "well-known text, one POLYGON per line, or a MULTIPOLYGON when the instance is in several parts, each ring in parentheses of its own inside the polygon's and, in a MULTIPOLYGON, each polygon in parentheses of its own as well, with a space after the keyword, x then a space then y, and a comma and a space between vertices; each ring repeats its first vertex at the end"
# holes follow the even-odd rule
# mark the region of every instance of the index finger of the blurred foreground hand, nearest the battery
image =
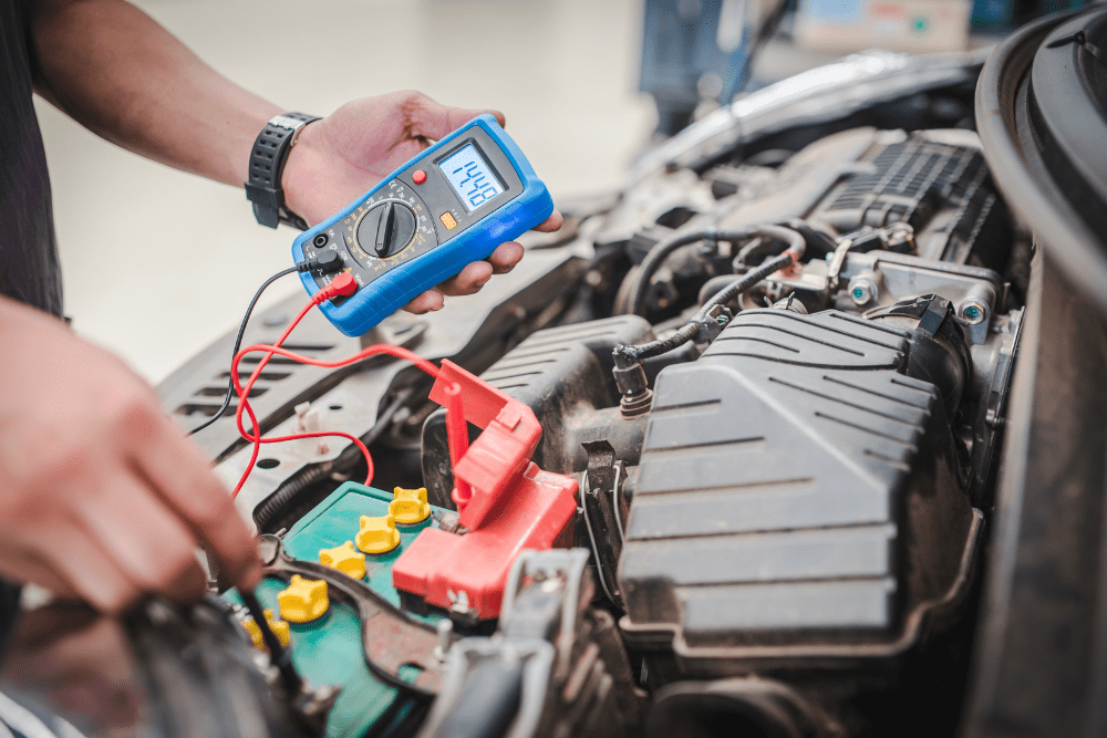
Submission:
POLYGON ((208 468, 199 449, 161 413, 147 418, 147 432, 131 459, 149 488, 205 542, 227 579, 245 589, 260 581, 254 537, 230 495, 208 468))

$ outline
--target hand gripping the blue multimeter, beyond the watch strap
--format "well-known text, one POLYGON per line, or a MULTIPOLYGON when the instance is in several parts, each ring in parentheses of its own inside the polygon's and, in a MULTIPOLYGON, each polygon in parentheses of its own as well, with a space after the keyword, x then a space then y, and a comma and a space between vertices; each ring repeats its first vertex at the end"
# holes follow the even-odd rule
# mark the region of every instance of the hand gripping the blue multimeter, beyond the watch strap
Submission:
MULTIPOLYGON (((284 201, 309 224, 331 217, 364 195, 373 185, 430 145, 482 113, 441 105, 417 92, 394 92, 343 105, 300 132, 284 165, 284 201)), ((561 227, 554 211, 535 230, 561 227)), ((472 294, 493 274, 511 270, 523 259, 523 247, 501 243, 487 261, 467 264, 456 277, 427 290, 405 306, 414 313, 438 310, 443 295, 472 294)))

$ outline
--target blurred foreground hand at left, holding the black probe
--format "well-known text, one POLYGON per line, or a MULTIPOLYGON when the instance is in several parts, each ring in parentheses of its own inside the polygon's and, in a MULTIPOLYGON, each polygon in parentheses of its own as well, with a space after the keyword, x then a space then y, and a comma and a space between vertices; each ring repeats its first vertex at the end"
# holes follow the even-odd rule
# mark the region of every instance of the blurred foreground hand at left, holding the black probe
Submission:
POLYGON ((0 573, 116 613, 198 599, 204 543, 230 581, 254 541, 154 391, 60 321, 0 299, 0 573))

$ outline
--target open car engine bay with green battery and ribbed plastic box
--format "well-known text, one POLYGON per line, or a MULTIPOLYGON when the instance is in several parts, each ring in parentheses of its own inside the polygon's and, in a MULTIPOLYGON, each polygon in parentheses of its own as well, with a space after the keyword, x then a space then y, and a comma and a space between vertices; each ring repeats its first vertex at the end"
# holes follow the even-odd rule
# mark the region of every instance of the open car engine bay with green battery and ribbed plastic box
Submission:
MULTIPOLYGON (((293 575, 329 588, 323 614, 284 617, 294 725, 954 732, 1032 246, 973 131, 979 62, 934 64, 872 72, 899 86, 838 117, 707 147, 690 129, 625 190, 560 202, 560 232, 442 313, 360 340, 304 320, 286 347, 313 358, 386 343, 441 364, 468 424, 389 356, 276 356, 254 385, 266 433, 342 430, 374 459, 366 487, 353 446, 267 448, 237 498, 263 606, 319 607, 293 575)), ((232 337, 163 383, 183 425, 216 413, 232 337)), ((196 440, 228 484, 251 462, 231 418, 196 440)))

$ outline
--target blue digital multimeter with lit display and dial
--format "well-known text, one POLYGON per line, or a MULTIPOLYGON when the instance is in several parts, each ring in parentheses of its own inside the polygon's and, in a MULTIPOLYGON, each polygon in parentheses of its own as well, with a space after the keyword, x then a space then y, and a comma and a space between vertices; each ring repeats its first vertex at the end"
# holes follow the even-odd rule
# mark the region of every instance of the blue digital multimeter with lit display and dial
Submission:
POLYGON ((546 185, 490 115, 479 115, 411 159, 353 205, 292 243, 309 294, 348 271, 358 290, 320 304, 346 335, 362 335, 421 292, 486 259, 554 212, 546 185), (333 251, 341 260, 335 263, 333 251))

